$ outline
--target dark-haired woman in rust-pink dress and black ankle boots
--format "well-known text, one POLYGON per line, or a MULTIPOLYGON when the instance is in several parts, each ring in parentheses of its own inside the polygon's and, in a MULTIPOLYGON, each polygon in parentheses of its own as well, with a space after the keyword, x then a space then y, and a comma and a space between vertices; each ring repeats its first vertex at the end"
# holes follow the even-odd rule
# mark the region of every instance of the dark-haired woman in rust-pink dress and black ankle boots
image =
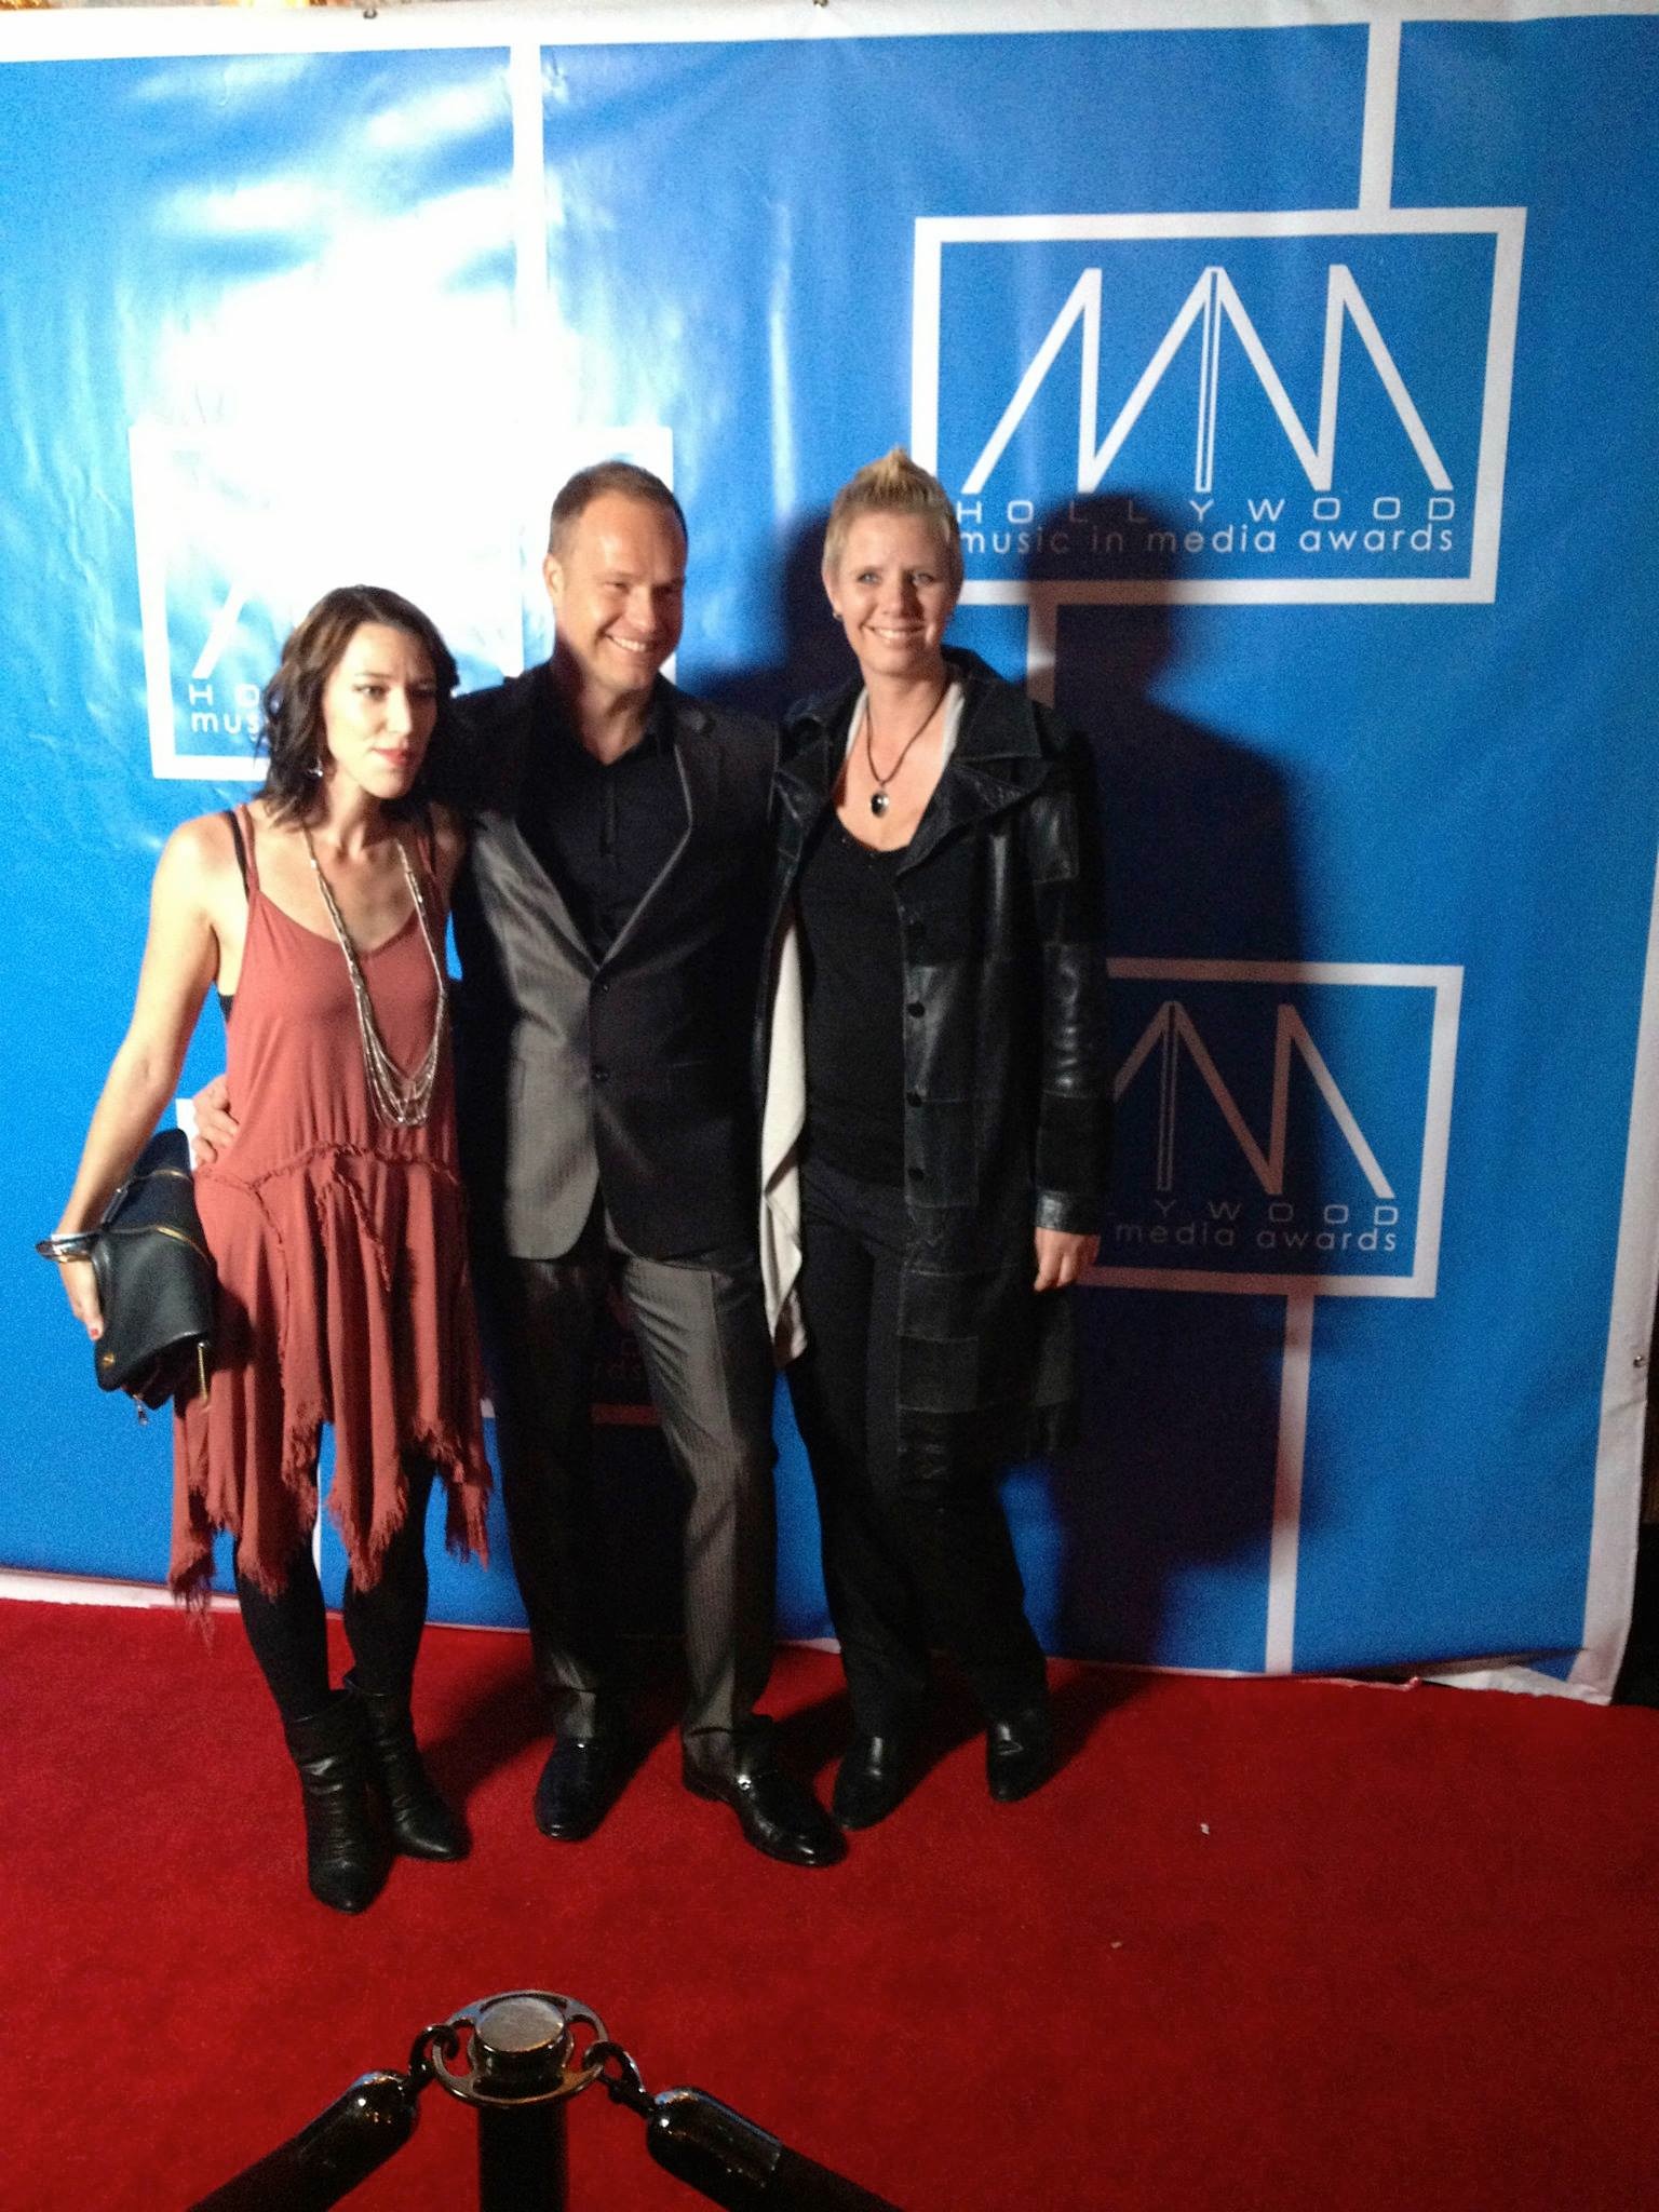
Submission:
POLYGON ((431 1482, 462 1553, 484 1551, 489 1495, 445 991, 462 832, 422 799, 453 686, 438 630, 392 591, 330 591, 299 624, 265 686, 259 796, 161 852, 133 1022, 53 1239, 97 1338, 75 1239, 175 1095, 217 984, 239 1135, 197 1170, 219 1314, 208 1391, 175 1402, 168 1582, 206 1601, 212 1533, 230 1531, 299 1770, 310 1887, 347 1913, 385 1876, 376 1798, 396 1849, 467 1851, 409 1719, 431 1482), (349 1568, 343 1690, 310 1544, 325 1422, 349 1568))

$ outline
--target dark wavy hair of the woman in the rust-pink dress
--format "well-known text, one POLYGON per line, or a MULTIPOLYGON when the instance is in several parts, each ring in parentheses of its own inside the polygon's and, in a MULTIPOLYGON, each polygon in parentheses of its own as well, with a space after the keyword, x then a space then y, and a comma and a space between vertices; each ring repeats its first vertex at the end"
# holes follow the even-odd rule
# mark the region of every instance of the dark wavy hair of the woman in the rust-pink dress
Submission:
POLYGON ((259 796, 276 816, 305 816, 316 805, 323 772, 323 690, 365 622, 407 630, 431 661, 438 686, 438 723, 420 774, 403 799, 389 801, 387 814, 418 814, 427 803, 431 754, 445 743, 449 699, 460 681, 456 657, 431 617, 400 593, 387 591, 383 584, 336 584, 334 591, 323 593, 310 615, 294 624, 276 675, 261 695, 265 717, 261 743, 270 765, 259 796))

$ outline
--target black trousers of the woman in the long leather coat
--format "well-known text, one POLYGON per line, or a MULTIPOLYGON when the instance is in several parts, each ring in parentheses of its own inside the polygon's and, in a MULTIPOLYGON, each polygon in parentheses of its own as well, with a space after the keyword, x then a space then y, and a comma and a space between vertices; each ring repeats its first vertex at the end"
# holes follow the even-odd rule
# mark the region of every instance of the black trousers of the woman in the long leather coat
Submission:
POLYGON ((956 1659, 989 1719, 1011 1717, 1042 1699, 1044 1663, 995 1473, 916 1475, 898 1460, 905 1194, 807 1161, 801 1212, 807 1352, 790 1396, 854 1721, 876 1736, 911 1732, 929 1646, 956 1659))

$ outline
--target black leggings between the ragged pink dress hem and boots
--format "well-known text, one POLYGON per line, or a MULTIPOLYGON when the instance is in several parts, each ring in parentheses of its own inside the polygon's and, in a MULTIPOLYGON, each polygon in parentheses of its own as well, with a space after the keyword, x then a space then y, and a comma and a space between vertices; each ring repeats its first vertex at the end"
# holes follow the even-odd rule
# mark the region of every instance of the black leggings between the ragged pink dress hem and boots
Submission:
MULTIPOLYGON (((369 1590, 358 1590, 347 1571, 341 1619, 352 1646, 354 1674, 361 1688, 409 1697, 420 1630, 427 1626, 427 1498, 434 1469, 411 1460, 409 1513, 385 1548, 380 1575, 369 1590)), ((323 1584, 316 1579, 310 1546, 301 1546, 288 1564, 288 1579, 274 1597, 243 1579, 237 1564, 237 1599, 259 1670, 270 1683, 276 1710, 285 1721, 307 1721, 332 1697, 327 1672, 327 1617, 323 1584)))

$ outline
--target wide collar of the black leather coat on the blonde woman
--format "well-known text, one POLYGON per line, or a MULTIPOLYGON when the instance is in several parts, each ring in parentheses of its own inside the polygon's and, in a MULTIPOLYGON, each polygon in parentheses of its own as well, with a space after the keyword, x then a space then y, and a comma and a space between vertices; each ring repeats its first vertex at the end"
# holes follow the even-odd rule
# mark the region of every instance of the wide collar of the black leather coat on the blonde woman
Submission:
MULTIPOLYGON (((962 723, 900 872, 925 860, 953 830, 1026 799, 1048 774, 1042 730, 1026 695, 1004 684, 978 653, 947 646, 945 661, 962 679, 962 723)), ((803 843, 836 787, 860 688, 847 684, 790 714, 794 743, 779 770, 779 803, 803 843)))

